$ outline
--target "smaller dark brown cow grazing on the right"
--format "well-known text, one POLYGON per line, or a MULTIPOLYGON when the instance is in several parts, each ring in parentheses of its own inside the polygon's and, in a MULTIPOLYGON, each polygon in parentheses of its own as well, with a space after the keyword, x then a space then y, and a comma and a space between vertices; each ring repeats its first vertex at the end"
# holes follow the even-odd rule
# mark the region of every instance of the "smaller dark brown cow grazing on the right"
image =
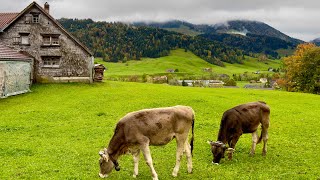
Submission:
POLYGON ((267 153, 267 140, 269 128, 269 106, 262 101, 242 104, 229 109, 223 113, 218 140, 216 142, 209 141, 213 154, 212 163, 218 164, 227 149, 228 157, 231 160, 234 147, 243 133, 252 133, 252 147, 250 154, 254 155, 257 143, 263 139, 262 155, 267 153), (258 139, 257 129, 261 124, 261 135, 258 139))

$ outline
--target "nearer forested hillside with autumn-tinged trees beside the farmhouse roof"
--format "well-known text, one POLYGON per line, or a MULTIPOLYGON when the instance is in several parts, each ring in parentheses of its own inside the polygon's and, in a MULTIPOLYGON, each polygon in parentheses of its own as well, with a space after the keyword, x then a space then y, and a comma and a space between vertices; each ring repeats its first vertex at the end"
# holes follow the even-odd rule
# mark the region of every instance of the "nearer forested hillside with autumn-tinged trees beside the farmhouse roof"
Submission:
POLYGON ((104 61, 157 58, 168 55, 171 49, 176 48, 191 51, 219 66, 224 66, 222 62, 242 63, 244 59, 244 51, 201 36, 191 37, 159 28, 95 22, 91 19, 62 18, 58 21, 104 61))

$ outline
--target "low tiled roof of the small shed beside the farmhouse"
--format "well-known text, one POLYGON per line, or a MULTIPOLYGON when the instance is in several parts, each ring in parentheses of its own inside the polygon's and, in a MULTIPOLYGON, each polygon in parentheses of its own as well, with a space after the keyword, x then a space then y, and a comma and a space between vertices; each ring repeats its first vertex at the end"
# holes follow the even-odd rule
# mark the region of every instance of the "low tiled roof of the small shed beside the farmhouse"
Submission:
POLYGON ((31 60, 32 58, 15 51, 8 46, 0 43, 0 61, 1 60, 31 60))

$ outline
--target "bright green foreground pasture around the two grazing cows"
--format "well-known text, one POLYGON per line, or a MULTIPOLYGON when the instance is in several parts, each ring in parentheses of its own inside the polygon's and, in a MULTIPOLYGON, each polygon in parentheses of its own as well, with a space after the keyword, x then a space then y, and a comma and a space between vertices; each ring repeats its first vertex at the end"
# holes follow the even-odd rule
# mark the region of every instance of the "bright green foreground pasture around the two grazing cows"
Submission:
MULTIPOLYGON (((98 179, 98 151, 108 145, 116 122, 144 108, 193 107, 193 173, 183 158, 175 179, 319 179, 320 96, 283 91, 191 88, 105 81, 33 85, 32 93, 0 99, 0 179, 98 179), (248 155, 242 135, 234 159, 213 165, 208 139, 216 140, 222 113, 262 100, 271 107, 268 153, 248 155)), ((260 133, 259 133, 260 134, 260 133)), ((175 142, 151 147, 159 179, 173 179, 175 142)), ((131 156, 109 179, 133 179, 131 156)), ((151 179, 141 156, 137 179, 151 179)))

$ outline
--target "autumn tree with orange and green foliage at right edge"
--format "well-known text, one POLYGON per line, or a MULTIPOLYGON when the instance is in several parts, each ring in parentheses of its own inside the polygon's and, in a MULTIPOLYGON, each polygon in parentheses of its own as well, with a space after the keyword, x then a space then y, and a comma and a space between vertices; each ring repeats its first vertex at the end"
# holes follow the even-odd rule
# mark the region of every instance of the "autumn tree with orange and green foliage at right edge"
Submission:
POLYGON ((288 91, 319 93, 320 48, 312 43, 300 44, 292 56, 283 59, 288 91), (317 85, 318 84, 318 85, 317 85))

